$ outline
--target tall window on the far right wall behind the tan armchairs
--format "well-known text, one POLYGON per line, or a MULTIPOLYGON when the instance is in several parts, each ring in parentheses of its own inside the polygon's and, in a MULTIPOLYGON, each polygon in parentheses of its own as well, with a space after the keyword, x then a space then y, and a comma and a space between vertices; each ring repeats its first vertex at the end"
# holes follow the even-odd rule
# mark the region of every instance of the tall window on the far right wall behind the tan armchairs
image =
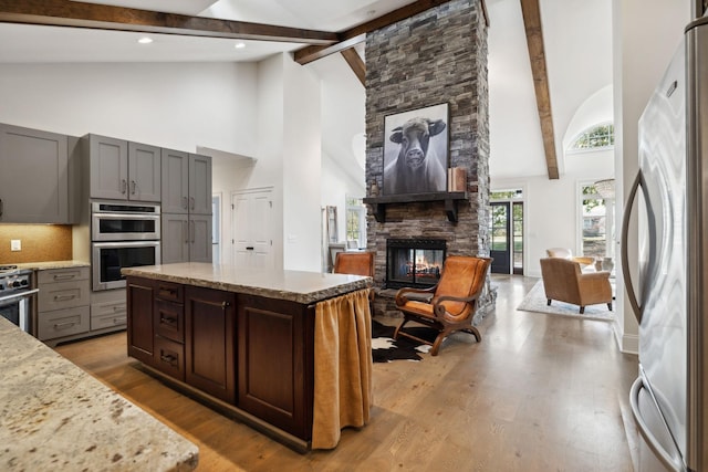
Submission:
POLYGON ((604 258, 607 252, 607 207, 595 186, 581 186, 583 255, 604 258))

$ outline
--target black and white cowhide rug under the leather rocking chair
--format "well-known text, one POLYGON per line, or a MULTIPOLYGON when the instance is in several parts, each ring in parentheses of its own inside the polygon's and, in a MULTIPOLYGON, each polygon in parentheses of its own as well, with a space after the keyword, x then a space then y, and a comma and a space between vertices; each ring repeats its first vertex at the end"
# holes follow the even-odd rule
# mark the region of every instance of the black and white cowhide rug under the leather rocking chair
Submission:
MULTIPOLYGON (((386 326, 375 319, 372 319, 372 356, 374 363, 391 363, 392 360, 423 360, 419 354, 430 350, 431 346, 420 344, 417 340, 398 336, 394 339, 395 326, 386 326)), ((435 340, 437 332, 426 327, 406 327, 405 332, 413 334, 421 339, 435 340)))

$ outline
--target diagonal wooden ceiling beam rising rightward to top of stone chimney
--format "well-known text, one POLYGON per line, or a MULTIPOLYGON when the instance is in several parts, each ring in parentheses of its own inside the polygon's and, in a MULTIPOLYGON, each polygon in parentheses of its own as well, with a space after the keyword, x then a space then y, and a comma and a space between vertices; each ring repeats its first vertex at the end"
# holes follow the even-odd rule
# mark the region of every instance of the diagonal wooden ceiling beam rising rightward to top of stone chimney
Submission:
POLYGON ((356 44, 366 41, 366 33, 381 30, 398 21, 410 18, 414 14, 421 13, 434 7, 447 3, 450 0, 417 0, 405 7, 400 7, 389 13, 378 17, 374 20, 367 21, 358 27, 351 28, 346 31, 339 33, 340 41, 331 45, 313 45, 303 48, 294 52, 295 62, 304 65, 322 57, 326 57, 330 54, 342 52, 345 49, 353 48, 356 44))

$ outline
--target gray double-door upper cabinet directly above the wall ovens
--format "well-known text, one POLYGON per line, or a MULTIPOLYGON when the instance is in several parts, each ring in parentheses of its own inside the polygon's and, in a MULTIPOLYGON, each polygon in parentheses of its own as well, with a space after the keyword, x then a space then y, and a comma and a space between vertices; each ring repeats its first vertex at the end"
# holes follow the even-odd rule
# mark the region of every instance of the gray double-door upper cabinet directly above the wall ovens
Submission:
POLYGON ((91 198, 159 202, 160 149, 88 135, 91 198))

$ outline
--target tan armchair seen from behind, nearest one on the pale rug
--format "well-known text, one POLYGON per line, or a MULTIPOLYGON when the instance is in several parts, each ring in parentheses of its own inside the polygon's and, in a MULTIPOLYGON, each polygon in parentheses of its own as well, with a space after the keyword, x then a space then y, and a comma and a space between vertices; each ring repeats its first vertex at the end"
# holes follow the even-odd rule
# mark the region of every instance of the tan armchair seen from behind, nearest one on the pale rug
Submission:
POLYGON ((606 303, 612 311, 612 286, 610 272, 583 273, 575 261, 562 258, 541 259, 541 275, 545 298, 572 303, 585 313, 585 306, 606 303))

